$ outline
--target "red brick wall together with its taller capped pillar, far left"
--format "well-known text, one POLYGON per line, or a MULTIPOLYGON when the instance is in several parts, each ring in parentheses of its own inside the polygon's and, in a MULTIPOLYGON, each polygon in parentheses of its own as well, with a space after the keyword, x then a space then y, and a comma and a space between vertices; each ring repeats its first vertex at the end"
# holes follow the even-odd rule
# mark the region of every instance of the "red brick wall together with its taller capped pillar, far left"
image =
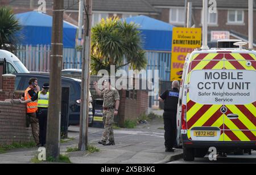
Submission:
POLYGON ((18 100, 22 93, 14 93, 15 75, 5 74, 0 91, 0 145, 28 142, 32 139, 31 127, 26 127, 26 105, 18 100), (7 100, 6 100, 7 99, 7 100))

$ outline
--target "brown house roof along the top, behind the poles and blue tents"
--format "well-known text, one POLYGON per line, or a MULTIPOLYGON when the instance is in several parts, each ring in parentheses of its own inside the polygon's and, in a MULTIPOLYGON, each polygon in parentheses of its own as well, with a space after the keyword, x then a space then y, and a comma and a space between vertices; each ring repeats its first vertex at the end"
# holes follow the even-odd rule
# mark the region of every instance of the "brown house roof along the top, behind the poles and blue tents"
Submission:
MULTIPOLYGON (((30 0, 12 0, 10 6, 30 7, 30 0)), ((52 8, 52 0, 46 1, 46 7, 52 8)), ((32 2, 34 8, 39 7, 38 1, 32 2)), ((78 10, 79 0, 64 0, 64 8, 78 10)), ((118 11, 118 12, 146 12, 157 13, 154 7, 146 0, 93 0, 93 11, 118 11)))

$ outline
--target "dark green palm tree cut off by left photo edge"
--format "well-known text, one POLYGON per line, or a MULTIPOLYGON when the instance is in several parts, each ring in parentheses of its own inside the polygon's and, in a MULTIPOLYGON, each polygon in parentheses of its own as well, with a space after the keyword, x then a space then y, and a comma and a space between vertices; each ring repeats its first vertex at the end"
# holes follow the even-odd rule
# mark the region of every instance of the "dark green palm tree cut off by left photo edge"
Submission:
POLYGON ((0 49, 12 50, 20 37, 16 33, 22 28, 10 7, 0 7, 0 49))

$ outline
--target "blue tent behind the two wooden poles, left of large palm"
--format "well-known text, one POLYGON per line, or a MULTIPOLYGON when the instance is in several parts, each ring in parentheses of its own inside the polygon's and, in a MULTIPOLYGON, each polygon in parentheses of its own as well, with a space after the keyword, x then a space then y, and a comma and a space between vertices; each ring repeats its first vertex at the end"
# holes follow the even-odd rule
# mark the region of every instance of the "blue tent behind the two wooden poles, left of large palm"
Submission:
MULTIPOLYGON (((37 11, 16 14, 23 29, 23 45, 51 45, 52 16, 37 11)), ((63 46, 75 48, 77 27, 68 22, 63 23, 63 46)))

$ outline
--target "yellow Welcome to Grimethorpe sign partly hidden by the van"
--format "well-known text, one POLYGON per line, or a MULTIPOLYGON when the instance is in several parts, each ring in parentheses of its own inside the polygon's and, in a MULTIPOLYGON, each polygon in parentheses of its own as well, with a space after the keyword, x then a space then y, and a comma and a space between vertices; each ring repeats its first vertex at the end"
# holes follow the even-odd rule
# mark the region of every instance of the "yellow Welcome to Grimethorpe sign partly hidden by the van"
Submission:
POLYGON ((201 28, 174 27, 172 29, 172 58, 170 80, 181 80, 188 53, 201 47, 201 28))

